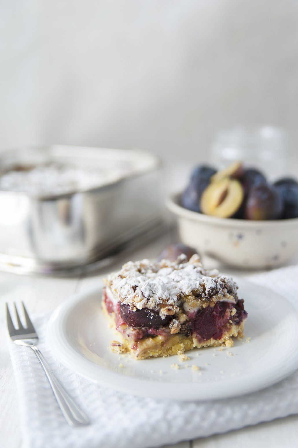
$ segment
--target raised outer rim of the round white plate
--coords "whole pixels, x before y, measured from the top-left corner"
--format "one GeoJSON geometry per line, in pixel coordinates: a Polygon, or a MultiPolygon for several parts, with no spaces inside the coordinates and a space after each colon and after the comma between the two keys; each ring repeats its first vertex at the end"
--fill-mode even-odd
{"type": "MultiPolygon", "coordinates": [[[[240,284],[240,286],[247,285],[265,289],[267,292],[282,298],[282,300],[289,306],[289,309],[293,311],[293,314],[298,323],[298,311],[294,307],[294,305],[287,300],[284,296],[279,293],[276,293],[272,289],[265,287],[263,285],[259,285],[253,282],[250,282],[243,278],[237,278],[233,276],[233,279],[240,284]]],[[[222,384],[228,387],[222,387],[221,392],[210,394],[210,388],[198,388],[199,391],[195,393],[194,383],[186,383],[181,382],[179,384],[183,384],[182,388],[176,388],[175,397],[171,397],[173,394],[174,384],[171,382],[163,382],[162,388],[157,386],[158,392],[155,391],[156,385],[160,385],[161,383],[157,383],[155,381],[149,381],[147,379],[130,377],[128,375],[119,374],[117,371],[112,371],[105,369],[103,366],[99,366],[95,362],[88,360],[82,354],[80,354],[77,350],[75,350],[71,343],[65,338],[64,340],[58,337],[59,332],[57,332],[58,328],[63,327],[63,323],[66,322],[68,315],[75,309],[75,307],[84,302],[85,300],[90,299],[92,295],[95,293],[100,293],[102,289],[102,280],[99,280],[99,283],[96,287],[91,287],[87,289],[83,289],[82,291],[71,295],[68,299],[62,302],[51,314],[50,319],[47,324],[47,341],[50,347],[50,350],[61,364],[69,368],[69,370],[81,375],[83,378],[88,379],[94,383],[102,385],[104,387],[113,388],[115,390],[131,393],[133,395],[138,396],[146,396],[155,399],[166,399],[166,400],[175,400],[175,401],[212,401],[212,400],[220,400],[226,398],[233,398],[237,396],[243,396],[252,392],[256,392],[262,390],[264,388],[268,388],[273,384],[280,382],[285,379],[289,375],[293,374],[298,369],[298,351],[296,356],[290,357],[289,364],[281,366],[277,369],[274,374],[271,375],[271,380],[267,381],[265,378],[259,379],[259,381],[254,381],[252,385],[248,385],[246,383],[246,387],[243,389],[243,379],[251,378],[250,375],[241,375],[241,377],[233,378],[233,379],[225,379],[222,384]],[[71,361],[69,360],[72,354],[71,361]],[[89,366],[89,369],[87,367],[89,366]],[[91,366],[93,368],[91,369],[91,366]],[[87,370],[86,370],[87,369],[87,370]],[[96,378],[94,377],[94,373],[96,372],[96,378]],[[100,375],[100,372],[102,375],[100,375]],[[121,378],[121,381],[119,381],[121,378]],[[229,384],[233,383],[233,388],[229,388],[229,384]],[[160,390],[161,389],[161,390],[160,390]],[[177,390],[178,389],[178,390],[177,390]],[[233,392],[232,392],[233,390],[233,392]],[[229,391],[229,392],[228,392],[229,391]],[[172,392],[172,393],[171,393],[172,392]],[[200,393],[198,393],[200,392],[200,393]]],[[[101,297],[101,296],[100,296],[101,297]]],[[[101,300],[101,298],[100,298],[101,300]]],[[[294,352],[295,353],[295,352],[294,352]]],[[[147,360],[148,361],[148,360],[147,360]]],[[[257,376],[257,375],[255,375],[257,376]]],[[[200,383],[196,383],[198,386],[200,383]]],[[[206,386],[206,383],[202,383],[206,386]]]]}

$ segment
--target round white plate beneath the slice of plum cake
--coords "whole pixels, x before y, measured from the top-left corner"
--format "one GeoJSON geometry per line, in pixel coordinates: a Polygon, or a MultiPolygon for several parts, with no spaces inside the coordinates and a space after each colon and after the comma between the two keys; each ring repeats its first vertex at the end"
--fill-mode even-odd
{"type": "Polygon", "coordinates": [[[298,368],[298,314],[274,291],[237,282],[248,312],[244,330],[250,341],[235,339],[232,348],[194,349],[187,352],[186,362],[177,356],[140,361],[112,353],[108,344],[117,337],[101,311],[100,282],[54,311],[48,323],[50,348],[60,362],[85,378],[136,395],[214,400],[257,391],[298,368]],[[171,368],[173,363],[179,370],[171,368]],[[200,370],[192,370],[192,365],[200,370]]]}

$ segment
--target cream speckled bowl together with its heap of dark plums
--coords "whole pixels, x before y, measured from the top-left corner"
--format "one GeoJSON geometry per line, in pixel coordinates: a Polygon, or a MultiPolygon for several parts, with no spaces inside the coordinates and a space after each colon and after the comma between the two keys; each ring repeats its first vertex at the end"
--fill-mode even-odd
{"type": "Polygon", "coordinates": [[[181,241],[238,268],[280,266],[298,254],[298,181],[269,182],[233,162],[194,168],[186,189],[167,200],[181,241]]]}

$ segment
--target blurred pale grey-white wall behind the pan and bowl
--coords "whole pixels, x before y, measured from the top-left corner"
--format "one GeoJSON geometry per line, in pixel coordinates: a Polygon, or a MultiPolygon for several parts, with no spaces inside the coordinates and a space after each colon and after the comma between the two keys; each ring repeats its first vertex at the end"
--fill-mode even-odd
{"type": "Polygon", "coordinates": [[[298,144],[295,0],[3,0],[0,149],[62,143],[206,158],[219,127],[298,144]]]}

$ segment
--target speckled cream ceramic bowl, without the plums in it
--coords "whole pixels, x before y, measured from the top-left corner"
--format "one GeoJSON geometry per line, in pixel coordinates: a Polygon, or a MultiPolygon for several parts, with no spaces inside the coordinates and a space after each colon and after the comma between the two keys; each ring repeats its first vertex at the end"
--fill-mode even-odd
{"type": "Polygon", "coordinates": [[[181,241],[230,266],[277,267],[298,253],[298,218],[250,221],[216,218],[181,207],[180,194],[166,205],[178,220],[181,241]]]}

